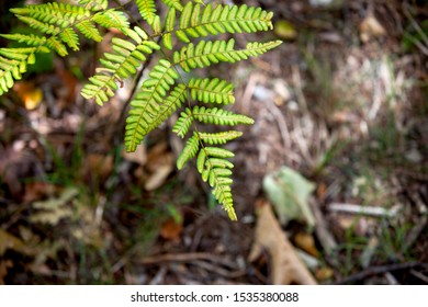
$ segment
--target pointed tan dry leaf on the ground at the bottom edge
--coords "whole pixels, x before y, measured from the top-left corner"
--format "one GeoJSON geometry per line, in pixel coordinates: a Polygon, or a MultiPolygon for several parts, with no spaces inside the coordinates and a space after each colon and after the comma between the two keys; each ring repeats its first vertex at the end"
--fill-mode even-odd
{"type": "Polygon", "coordinates": [[[269,202],[259,200],[256,207],[255,242],[248,260],[255,261],[262,249],[266,249],[272,259],[272,284],[289,285],[293,282],[303,285],[317,284],[283,234],[269,202]]]}

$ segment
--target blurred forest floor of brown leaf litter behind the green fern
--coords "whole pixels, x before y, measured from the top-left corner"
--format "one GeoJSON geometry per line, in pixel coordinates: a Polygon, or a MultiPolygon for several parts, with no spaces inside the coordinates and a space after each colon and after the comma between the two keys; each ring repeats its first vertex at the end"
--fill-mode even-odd
{"type": "Polygon", "coordinates": [[[133,81],[102,107],[80,96],[106,33],[0,98],[0,284],[428,284],[428,7],[233,2],[277,23],[237,44],[284,41],[210,69],[256,121],[228,147],[238,221],[177,170],[174,118],[125,154],[133,81]],[[311,223],[271,206],[284,168],[311,223]]]}

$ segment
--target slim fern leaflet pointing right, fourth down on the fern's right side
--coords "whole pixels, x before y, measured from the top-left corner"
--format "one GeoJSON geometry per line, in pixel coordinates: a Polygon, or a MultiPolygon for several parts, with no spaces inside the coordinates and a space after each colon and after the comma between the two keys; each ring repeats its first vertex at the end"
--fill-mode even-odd
{"type": "Polygon", "coordinates": [[[255,121],[248,116],[218,107],[211,109],[196,105],[192,109],[191,114],[194,120],[205,124],[235,126],[239,124],[252,125],[255,123],[255,121]]]}

